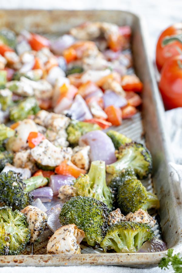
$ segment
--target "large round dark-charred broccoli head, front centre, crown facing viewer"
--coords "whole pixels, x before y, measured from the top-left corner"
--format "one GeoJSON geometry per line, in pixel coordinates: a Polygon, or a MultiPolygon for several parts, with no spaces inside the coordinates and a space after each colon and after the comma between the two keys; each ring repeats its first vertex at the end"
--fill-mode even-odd
{"type": "Polygon", "coordinates": [[[100,243],[107,229],[108,207],[92,197],[76,196],[66,202],[59,215],[62,225],[76,224],[85,232],[86,241],[94,246],[100,243]]]}

